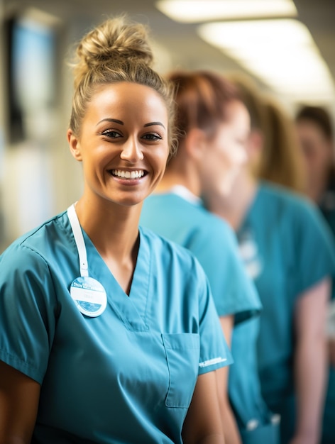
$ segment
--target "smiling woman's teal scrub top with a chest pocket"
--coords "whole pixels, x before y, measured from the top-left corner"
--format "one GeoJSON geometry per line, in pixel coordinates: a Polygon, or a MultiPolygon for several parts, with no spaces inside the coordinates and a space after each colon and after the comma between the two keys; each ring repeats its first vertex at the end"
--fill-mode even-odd
{"type": "Polygon", "coordinates": [[[207,277],[141,228],[127,296],[83,234],[107,293],[94,318],[70,297],[79,259],[67,213],[0,256],[0,360],[41,384],[32,443],[182,443],[198,374],[232,362],[207,277]]]}

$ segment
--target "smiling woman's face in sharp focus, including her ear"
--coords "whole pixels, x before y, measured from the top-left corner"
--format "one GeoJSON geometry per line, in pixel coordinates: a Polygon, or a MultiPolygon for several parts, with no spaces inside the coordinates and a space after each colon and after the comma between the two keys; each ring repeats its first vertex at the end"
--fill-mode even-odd
{"type": "Polygon", "coordinates": [[[69,130],[72,155],[82,161],[84,192],[131,206],[153,192],[169,153],[167,109],[150,87],[121,82],[98,89],[79,137],[69,130]]]}

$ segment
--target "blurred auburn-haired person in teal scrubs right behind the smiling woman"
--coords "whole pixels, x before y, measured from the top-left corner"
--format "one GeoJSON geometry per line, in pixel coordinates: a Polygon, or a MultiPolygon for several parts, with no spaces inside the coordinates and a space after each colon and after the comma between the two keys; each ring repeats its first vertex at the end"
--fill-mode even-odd
{"type": "Polygon", "coordinates": [[[168,79],[177,91],[178,150],[145,201],[141,224],[191,250],[209,278],[234,356],[229,399],[227,374],[216,372],[226,443],[274,444],[278,426],[260,396],[255,362],[257,321],[252,321],[260,311],[258,295],[243,270],[231,228],[202,204],[212,187],[229,192],[245,162],[248,111],[236,88],[219,74],[172,72],[168,79]]]}

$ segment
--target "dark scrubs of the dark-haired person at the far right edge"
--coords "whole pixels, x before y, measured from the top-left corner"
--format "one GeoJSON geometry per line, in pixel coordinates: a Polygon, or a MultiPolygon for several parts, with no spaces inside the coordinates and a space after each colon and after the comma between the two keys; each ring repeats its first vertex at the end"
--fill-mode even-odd
{"type": "MultiPolygon", "coordinates": [[[[330,184],[322,200],[319,203],[319,209],[322,211],[326,223],[328,223],[331,232],[335,236],[335,184],[330,184]]],[[[334,285],[335,289],[335,285],[334,285]]],[[[335,292],[333,289],[333,301],[335,292]]],[[[322,444],[335,443],[335,368],[329,367],[329,381],[326,391],[326,402],[324,406],[324,423],[322,431],[322,444]]]]}

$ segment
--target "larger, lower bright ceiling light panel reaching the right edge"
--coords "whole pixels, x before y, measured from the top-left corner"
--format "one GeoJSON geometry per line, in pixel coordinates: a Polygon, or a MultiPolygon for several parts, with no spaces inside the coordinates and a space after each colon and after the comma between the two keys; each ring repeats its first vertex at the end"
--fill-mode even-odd
{"type": "Polygon", "coordinates": [[[292,19],[206,23],[198,28],[207,43],[236,60],[280,94],[328,94],[334,84],[309,30],[292,19]]]}

